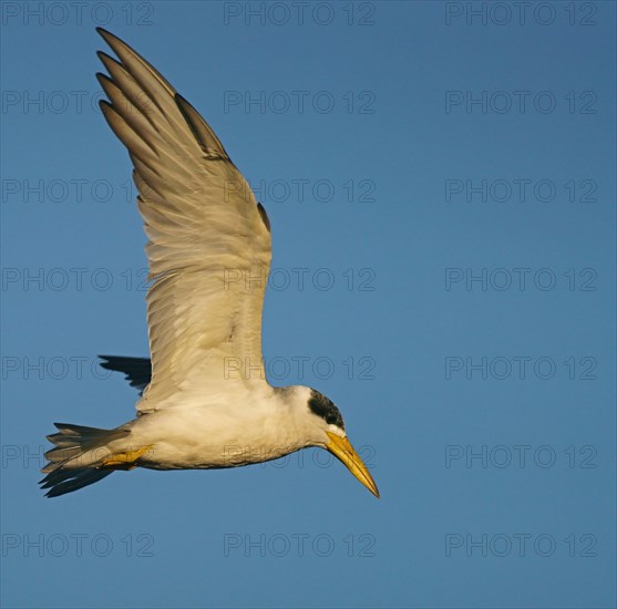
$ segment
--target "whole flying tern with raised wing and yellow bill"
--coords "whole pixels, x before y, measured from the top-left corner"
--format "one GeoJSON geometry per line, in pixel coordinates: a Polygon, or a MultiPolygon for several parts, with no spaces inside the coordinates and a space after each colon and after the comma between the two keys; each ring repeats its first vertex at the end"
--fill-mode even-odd
{"type": "Polygon", "coordinates": [[[379,497],[337,406],[315,389],[266,380],[266,210],[197,111],[133,49],[97,31],[117,56],[99,52],[109,72],[96,74],[109,99],[100,104],[128,151],[148,237],[151,360],[103,357],[142,391],[137,416],[113,430],[55,423],[47,495],[116,469],[237,467],[318,446],[379,497]]]}

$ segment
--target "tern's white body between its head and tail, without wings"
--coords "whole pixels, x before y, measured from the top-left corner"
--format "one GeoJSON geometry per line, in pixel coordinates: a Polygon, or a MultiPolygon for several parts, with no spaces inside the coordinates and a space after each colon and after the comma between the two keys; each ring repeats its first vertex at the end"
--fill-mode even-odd
{"type": "Polygon", "coordinates": [[[109,448],[115,453],[151,446],[140,466],[153,469],[235,467],[278,458],[307,446],[327,443],[321,430],[308,424],[304,386],[220,394],[204,404],[198,395],[178,396],[173,407],[140,416],[124,425],[131,434],[109,448]]]}

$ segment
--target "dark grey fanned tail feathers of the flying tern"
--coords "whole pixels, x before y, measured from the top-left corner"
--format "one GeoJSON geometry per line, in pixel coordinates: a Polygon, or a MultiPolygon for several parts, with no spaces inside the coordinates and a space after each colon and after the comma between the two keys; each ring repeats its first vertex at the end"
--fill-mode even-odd
{"type": "Polygon", "coordinates": [[[107,444],[131,433],[128,430],[100,430],[68,423],[54,423],[58,433],[48,435],[55,447],[45,453],[49,463],[41,469],[47,476],[41,488],[49,488],[47,497],[58,497],[94,484],[113,469],[100,467],[110,456],[107,444]]]}

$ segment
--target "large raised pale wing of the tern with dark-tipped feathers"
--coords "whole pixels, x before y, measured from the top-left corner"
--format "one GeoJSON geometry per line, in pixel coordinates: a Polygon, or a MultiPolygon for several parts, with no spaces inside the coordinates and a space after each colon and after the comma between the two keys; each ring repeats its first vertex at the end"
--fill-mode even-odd
{"type": "Polygon", "coordinates": [[[103,114],[128,149],[150,239],[152,382],[140,413],[178,393],[207,398],[265,383],[261,310],[269,223],[218,137],[174,87],[110,32],[100,52],[103,114]]]}

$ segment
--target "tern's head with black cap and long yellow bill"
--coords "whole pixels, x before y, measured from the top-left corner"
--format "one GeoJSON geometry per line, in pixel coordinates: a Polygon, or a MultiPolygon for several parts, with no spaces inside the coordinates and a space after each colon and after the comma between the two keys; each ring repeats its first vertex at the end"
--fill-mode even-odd
{"type": "Polygon", "coordinates": [[[310,444],[332,453],[376,497],[379,497],[377,484],[347,438],[339,409],[315,389],[297,389],[301,390],[302,394],[302,420],[310,430],[307,430],[310,433],[310,444]]]}

